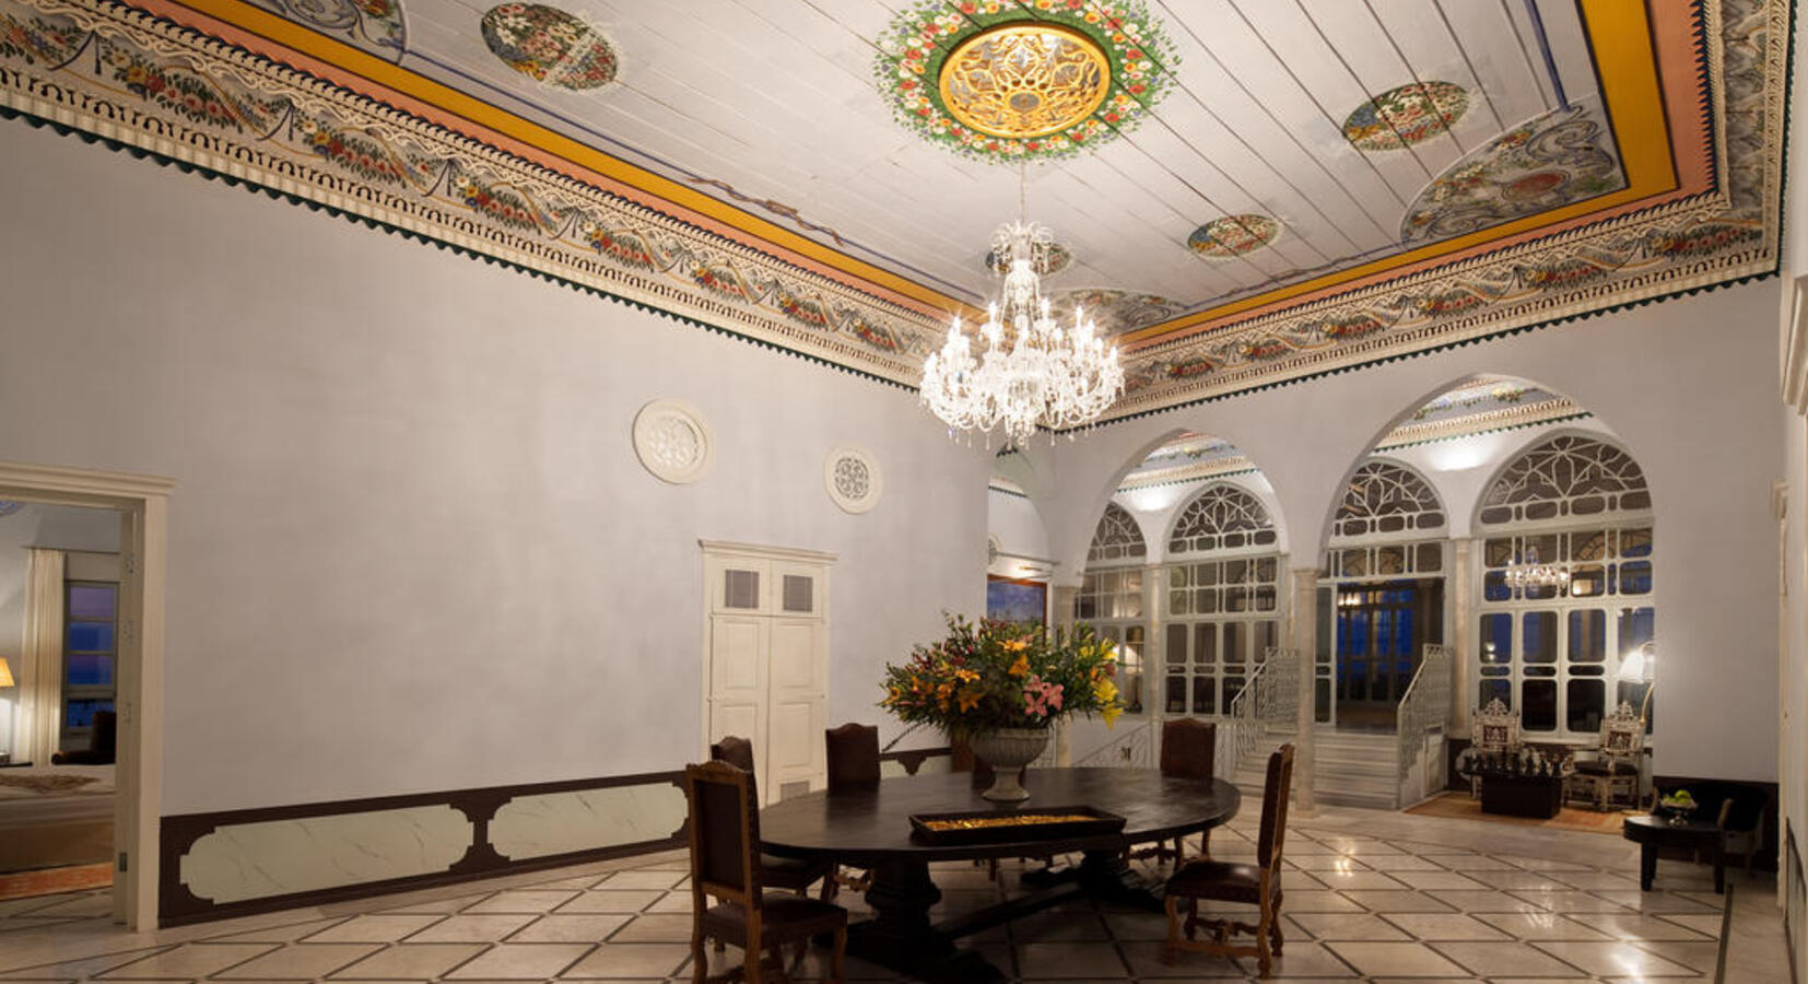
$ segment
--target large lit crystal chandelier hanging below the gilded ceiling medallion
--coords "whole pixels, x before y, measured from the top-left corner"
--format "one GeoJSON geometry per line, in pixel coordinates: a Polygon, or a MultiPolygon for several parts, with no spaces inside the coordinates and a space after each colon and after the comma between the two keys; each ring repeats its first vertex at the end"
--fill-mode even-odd
{"type": "Polygon", "coordinates": [[[922,402],[960,430],[1003,429],[1005,447],[1022,447],[1038,427],[1059,430],[1090,423],[1125,387],[1117,347],[1074,308],[1074,324],[1056,324],[1041,295],[1054,235],[1036,222],[1007,222],[993,235],[993,257],[1005,270],[1003,291],[978,329],[975,353],[955,317],[940,353],[922,365],[922,402]]]}

